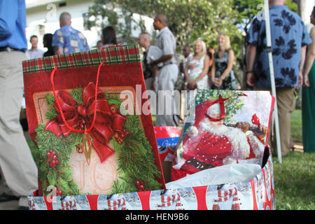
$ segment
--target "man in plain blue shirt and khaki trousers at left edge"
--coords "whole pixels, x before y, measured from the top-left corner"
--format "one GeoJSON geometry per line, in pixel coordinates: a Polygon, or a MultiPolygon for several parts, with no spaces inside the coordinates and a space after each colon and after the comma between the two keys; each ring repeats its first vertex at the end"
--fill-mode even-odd
{"type": "Polygon", "coordinates": [[[25,27],[25,0],[0,0],[0,169],[8,186],[0,202],[20,197],[20,208],[27,208],[27,195],[38,188],[37,167],[20,125],[25,27]]]}

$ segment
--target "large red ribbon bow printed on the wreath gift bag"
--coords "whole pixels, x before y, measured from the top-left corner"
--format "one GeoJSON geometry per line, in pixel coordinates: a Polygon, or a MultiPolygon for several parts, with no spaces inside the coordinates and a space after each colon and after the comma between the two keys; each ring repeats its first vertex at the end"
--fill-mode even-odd
{"type": "Polygon", "coordinates": [[[106,158],[114,153],[113,148],[108,144],[111,137],[115,135],[116,141],[119,140],[118,143],[122,144],[122,139],[128,133],[123,130],[126,117],[115,110],[111,110],[112,105],[109,106],[104,93],[99,88],[97,88],[97,101],[95,101],[95,88],[96,85],[94,83],[89,83],[83,88],[83,104],[80,105],[71,97],[69,92],[59,90],[56,94],[57,99],[55,99],[54,104],[58,116],[45,125],[45,130],[53,132],[57,137],[61,134],[67,137],[73,132],[64,123],[59,107],[57,106],[57,101],[62,109],[66,123],[73,129],[80,128],[80,130],[86,130],[86,127],[91,127],[94,118],[94,109],[96,109],[94,126],[89,134],[92,138],[91,144],[94,150],[99,155],[101,162],[104,162],[106,158]]]}

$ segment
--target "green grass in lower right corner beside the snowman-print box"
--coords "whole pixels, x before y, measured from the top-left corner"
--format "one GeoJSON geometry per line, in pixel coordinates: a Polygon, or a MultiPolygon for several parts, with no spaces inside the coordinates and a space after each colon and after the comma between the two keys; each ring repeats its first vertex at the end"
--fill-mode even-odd
{"type": "Polygon", "coordinates": [[[315,210],[315,153],[291,151],[274,161],[276,209],[315,210]]]}

